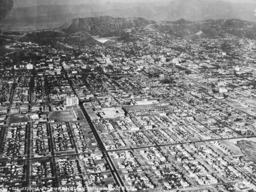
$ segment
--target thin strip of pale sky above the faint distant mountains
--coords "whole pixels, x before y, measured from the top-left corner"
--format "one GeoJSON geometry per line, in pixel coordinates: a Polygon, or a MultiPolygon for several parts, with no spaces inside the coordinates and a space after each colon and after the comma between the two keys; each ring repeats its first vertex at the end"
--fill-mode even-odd
{"type": "MultiPolygon", "coordinates": [[[[149,2],[149,1],[161,1],[161,2],[170,2],[173,0],[14,0],[14,7],[26,7],[26,6],[36,6],[36,5],[47,5],[47,4],[95,4],[95,3],[107,3],[107,2],[149,2]]],[[[211,0],[214,1],[214,0],[211,0]]],[[[226,2],[251,2],[256,4],[256,0],[223,0],[226,2]]]]}

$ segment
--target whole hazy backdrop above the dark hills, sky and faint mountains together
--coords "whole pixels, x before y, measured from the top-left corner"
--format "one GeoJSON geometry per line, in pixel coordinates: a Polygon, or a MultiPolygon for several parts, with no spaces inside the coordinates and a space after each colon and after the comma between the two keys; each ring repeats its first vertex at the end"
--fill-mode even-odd
{"type": "MultiPolygon", "coordinates": [[[[111,16],[153,21],[240,19],[256,22],[255,0],[0,0],[12,2],[1,14],[1,24],[52,29],[76,18],[111,16]]],[[[6,26],[7,26],[6,25],[6,26]]],[[[8,26],[7,26],[8,27],[8,26]]]]}

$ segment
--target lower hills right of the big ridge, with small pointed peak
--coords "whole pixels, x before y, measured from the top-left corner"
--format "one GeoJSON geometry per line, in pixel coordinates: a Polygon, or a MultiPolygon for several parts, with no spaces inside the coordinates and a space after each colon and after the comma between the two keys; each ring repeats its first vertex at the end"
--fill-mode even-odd
{"type": "Polygon", "coordinates": [[[156,30],[176,37],[204,36],[220,37],[231,34],[240,38],[256,39],[256,23],[238,19],[231,20],[205,20],[202,22],[162,22],[154,25],[156,30]]]}

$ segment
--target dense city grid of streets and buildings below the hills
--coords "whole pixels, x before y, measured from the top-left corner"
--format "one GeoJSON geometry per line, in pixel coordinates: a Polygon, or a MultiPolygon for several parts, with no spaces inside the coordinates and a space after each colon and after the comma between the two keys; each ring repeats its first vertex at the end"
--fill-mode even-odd
{"type": "Polygon", "coordinates": [[[255,191],[256,41],[125,32],[5,43],[26,54],[0,62],[2,190],[255,191]]]}

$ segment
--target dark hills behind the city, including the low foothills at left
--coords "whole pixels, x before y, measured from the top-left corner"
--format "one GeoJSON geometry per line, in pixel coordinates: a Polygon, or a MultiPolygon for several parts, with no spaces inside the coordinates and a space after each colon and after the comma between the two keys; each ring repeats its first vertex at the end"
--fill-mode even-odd
{"type": "Polygon", "coordinates": [[[225,35],[232,35],[256,40],[256,23],[238,19],[200,22],[180,19],[175,22],[156,22],[144,18],[113,18],[111,16],[76,18],[50,31],[24,34],[18,40],[61,48],[65,46],[68,48],[72,48],[72,46],[80,48],[95,45],[103,46],[104,44],[97,41],[97,38],[115,37],[113,38],[115,42],[132,42],[133,34],[130,34],[129,30],[134,28],[155,30],[169,34],[173,38],[220,38],[225,35]],[[97,38],[94,38],[95,36],[97,38]]]}

